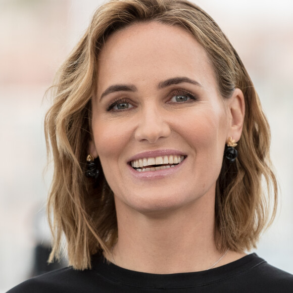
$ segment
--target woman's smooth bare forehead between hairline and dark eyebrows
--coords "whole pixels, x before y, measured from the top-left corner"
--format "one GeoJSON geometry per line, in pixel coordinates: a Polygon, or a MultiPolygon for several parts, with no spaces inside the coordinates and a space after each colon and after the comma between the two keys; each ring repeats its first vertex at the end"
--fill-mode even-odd
{"type": "Polygon", "coordinates": [[[207,53],[189,32],[159,22],[136,23],[113,33],[99,56],[98,89],[115,83],[175,76],[215,82],[207,53]]]}

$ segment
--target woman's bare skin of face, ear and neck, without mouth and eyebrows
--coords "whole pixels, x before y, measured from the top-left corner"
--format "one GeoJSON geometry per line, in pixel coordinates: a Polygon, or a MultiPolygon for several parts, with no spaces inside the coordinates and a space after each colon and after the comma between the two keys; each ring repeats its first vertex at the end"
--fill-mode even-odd
{"type": "MultiPolygon", "coordinates": [[[[112,34],[98,70],[89,152],[100,157],[115,194],[116,264],[152,273],[207,269],[221,256],[214,241],[215,186],[225,142],[241,135],[242,92],[235,89],[232,97],[223,99],[196,39],[181,28],[157,22],[112,34]],[[197,84],[158,87],[175,77],[197,84]],[[132,89],[103,94],[117,84],[132,89]],[[185,156],[174,172],[133,175],[133,156],[170,149],[185,156]]],[[[229,252],[218,265],[242,256],[229,252]]]]}

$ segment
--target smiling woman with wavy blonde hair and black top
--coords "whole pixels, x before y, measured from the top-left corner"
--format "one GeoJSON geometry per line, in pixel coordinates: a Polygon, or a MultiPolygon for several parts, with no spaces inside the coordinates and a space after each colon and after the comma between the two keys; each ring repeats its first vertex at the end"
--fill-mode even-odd
{"type": "Polygon", "coordinates": [[[64,234],[71,267],[10,292],[292,290],[293,276],[246,254],[276,211],[270,132],[209,15],[181,0],[111,1],[53,89],[50,261],[64,234]]]}

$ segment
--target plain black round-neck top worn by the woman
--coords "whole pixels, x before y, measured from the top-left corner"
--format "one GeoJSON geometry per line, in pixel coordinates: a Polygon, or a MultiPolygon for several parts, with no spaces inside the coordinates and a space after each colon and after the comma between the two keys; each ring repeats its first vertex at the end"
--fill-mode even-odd
{"type": "Polygon", "coordinates": [[[72,267],[52,271],[9,290],[9,293],[99,292],[293,292],[293,275],[269,265],[256,254],[207,271],[149,274],[108,264],[101,255],[92,258],[92,269],[72,267]]]}

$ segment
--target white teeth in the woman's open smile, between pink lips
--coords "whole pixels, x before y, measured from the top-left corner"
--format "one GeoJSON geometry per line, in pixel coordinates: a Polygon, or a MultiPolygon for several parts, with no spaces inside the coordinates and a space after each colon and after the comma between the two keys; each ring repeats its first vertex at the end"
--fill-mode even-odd
{"type": "Polygon", "coordinates": [[[182,155],[170,155],[156,158],[141,158],[130,162],[131,167],[138,172],[158,171],[175,167],[185,159],[182,155]]]}

